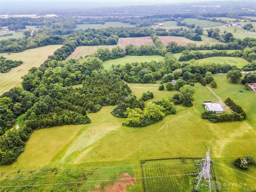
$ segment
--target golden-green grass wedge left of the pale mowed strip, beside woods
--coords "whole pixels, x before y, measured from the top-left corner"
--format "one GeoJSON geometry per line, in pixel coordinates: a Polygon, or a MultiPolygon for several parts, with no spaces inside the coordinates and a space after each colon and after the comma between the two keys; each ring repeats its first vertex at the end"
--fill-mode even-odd
{"type": "MultiPolygon", "coordinates": [[[[32,169],[44,167],[83,128],[84,125],[66,125],[35,130],[24,152],[12,164],[12,168],[32,169]]],[[[53,164],[52,166],[57,166],[53,164]]],[[[1,166],[1,171],[10,166],[1,166]]],[[[11,169],[12,170],[12,169],[11,169]]]]}

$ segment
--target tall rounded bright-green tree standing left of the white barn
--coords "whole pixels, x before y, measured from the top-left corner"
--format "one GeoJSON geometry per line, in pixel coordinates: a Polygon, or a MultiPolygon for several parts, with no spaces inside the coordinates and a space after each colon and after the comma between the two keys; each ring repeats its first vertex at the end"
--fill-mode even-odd
{"type": "Polygon", "coordinates": [[[195,93],[195,88],[190,85],[184,85],[180,88],[180,100],[186,107],[192,106],[192,101],[194,101],[193,94],[195,93]]]}

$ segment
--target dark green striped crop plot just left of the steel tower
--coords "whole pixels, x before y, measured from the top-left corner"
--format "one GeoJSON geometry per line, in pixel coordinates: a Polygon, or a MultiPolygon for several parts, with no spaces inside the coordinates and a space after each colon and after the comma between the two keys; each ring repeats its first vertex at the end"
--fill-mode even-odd
{"type": "Polygon", "coordinates": [[[142,164],[146,192],[191,191],[189,170],[195,169],[194,161],[152,160],[142,164]]]}

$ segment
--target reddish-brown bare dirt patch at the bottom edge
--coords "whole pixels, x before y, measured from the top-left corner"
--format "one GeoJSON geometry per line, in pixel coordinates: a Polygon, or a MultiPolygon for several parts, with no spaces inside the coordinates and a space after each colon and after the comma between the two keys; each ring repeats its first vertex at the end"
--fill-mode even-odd
{"type": "Polygon", "coordinates": [[[134,176],[123,173],[114,184],[105,186],[103,190],[100,189],[99,185],[95,185],[95,189],[90,192],[126,192],[126,187],[134,185],[135,182],[136,178],[134,176]]]}

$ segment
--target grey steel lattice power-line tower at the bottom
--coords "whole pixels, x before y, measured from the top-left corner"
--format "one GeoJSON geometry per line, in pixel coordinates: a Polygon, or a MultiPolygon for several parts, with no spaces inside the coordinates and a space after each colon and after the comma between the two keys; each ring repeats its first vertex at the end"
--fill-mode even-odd
{"type": "Polygon", "coordinates": [[[197,176],[197,185],[196,185],[196,190],[200,188],[201,186],[205,186],[209,192],[211,192],[211,174],[210,174],[210,166],[211,166],[211,158],[210,158],[210,147],[208,149],[208,152],[206,152],[206,159],[204,161],[204,164],[201,163],[202,165],[202,171],[200,174],[197,176]]]}

